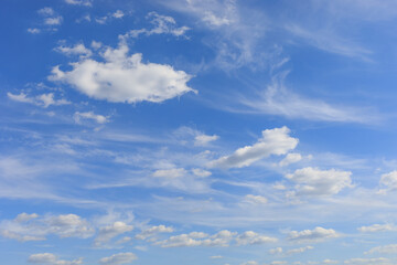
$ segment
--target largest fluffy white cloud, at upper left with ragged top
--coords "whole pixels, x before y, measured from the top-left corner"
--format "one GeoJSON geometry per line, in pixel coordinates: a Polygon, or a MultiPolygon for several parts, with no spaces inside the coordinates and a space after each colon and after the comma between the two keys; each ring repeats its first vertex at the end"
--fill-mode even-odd
{"type": "Polygon", "coordinates": [[[170,65],[142,63],[142,55],[128,55],[128,46],[108,47],[101,56],[72,63],[73,70],[63,72],[58,66],[49,78],[67,83],[96,99],[114,103],[160,103],[187,92],[195,92],[186,83],[192,77],[170,65]]]}

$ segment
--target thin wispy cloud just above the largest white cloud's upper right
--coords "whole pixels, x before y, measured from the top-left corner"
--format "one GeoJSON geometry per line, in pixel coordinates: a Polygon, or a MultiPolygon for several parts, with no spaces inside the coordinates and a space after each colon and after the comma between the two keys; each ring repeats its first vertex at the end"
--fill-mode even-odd
{"type": "Polygon", "coordinates": [[[186,31],[190,30],[187,26],[176,26],[176,22],[172,17],[161,15],[157,12],[150,12],[147,15],[147,19],[150,19],[153,28],[151,30],[140,29],[131,30],[127,34],[120,38],[138,38],[141,34],[152,35],[152,34],[171,34],[174,36],[184,35],[186,31]]]}

